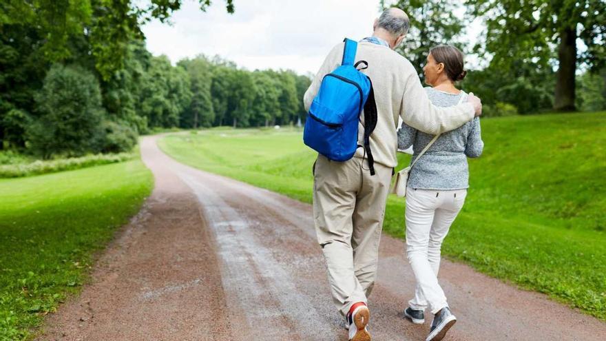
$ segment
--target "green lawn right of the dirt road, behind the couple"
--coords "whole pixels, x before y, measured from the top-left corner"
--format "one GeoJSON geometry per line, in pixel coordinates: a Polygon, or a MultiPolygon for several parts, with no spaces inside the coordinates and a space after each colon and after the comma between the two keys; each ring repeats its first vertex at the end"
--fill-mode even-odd
{"type": "MultiPolygon", "coordinates": [[[[484,154],[443,254],[606,320],[606,112],[482,121],[484,154]]],[[[179,161],[311,203],[315,153],[297,130],[167,136],[179,161]]],[[[409,156],[399,156],[399,167],[409,156]]],[[[404,237],[404,199],[385,231],[404,237]]],[[[380,274],[379,274],[380,276],[380,274]]]]}

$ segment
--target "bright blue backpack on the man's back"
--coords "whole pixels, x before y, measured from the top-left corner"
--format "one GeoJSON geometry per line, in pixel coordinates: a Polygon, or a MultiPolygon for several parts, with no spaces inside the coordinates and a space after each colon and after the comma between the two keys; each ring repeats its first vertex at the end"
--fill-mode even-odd
{"type": "Polygon", "coordinates": [[[359,147],[368,155],[370,174],[375,175],[374,158],[370,152],[370,134],[377,125],[377,105],[373,83],[354,65],[357,42],[345,39],[341,66],[322,79],[320,90],[311,103],[303,142],[333,161],[353,158],[359,147]],[[364,145],[358,145],[358,121],[364,109],[364,145]]]}

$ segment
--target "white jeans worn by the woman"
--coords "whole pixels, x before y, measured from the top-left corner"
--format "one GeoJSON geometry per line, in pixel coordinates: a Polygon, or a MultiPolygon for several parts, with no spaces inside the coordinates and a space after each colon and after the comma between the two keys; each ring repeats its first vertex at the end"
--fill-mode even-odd
{"type": "Polygon", "coordinates": [[[435,314],[448,307],[437,280],[440,249],[466,196],[467,189],[406,190],[406,254],[417,280],[415,297],[408,301],[412,309],[429,306],[435,314]]]}

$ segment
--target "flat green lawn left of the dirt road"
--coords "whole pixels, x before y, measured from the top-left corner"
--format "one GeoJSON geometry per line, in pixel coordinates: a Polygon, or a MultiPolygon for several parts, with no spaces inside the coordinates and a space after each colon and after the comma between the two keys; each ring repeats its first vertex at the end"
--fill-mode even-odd
{"type": "Polygon", "coordinates": [[[139,160],[0,179],[0,340],[31,338],[46,313],[79,291],[95,251],[152,187],[139,160]]]}

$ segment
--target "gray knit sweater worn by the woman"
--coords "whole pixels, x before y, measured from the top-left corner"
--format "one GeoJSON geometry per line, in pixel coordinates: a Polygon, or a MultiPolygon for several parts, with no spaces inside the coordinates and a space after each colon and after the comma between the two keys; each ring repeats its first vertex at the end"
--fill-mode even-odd
{"type": "MultiPolygon", "coordinates": [[[[466,93],[448,94],[425,88],[430,101],[437,107],[457,105],[466,93]]],[[[398,149],[408,149],[412,145],[415,152],[412,161],[434,136],[419,132],[402,123],[397,132],[398,149]]],[[[419,189],[464,189],[469,187],[467,157],[477,158],[482,154],[484,143],[480,134],[480,120],[473,118],[455,130],[441,134],[435,143],[410,169],[408,187],[419,189]]]]}

